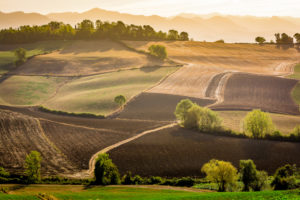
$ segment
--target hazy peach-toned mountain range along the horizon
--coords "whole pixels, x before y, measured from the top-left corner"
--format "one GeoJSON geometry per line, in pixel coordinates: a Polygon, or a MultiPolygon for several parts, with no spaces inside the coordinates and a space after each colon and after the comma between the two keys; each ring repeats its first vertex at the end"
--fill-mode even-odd
{"type": "Polygon", "coordinates": [[[293,35],[300,32],[300,18],[293,17],[254,17],[231,16],[218,13],[196,15],[182,13],[174,17],[160,17],[157,15],[144,16],[107,11],[94,8],[83,13],[64,12],[41,15],[37,13],[1,13],[0,28],[17,27],[20,25],[40,25],[50,21],[62,21],[75,25],[90,19],[96,21],[118,21],[126,24],[151,25],[156,30],[168,31],[177,29],[187,31],[195,40],[216,41],[224,39],[226,42],[253,42],[256,36],[263,36],[267,40],[274,40],[274,33],[286,32],[293,35]]]}

